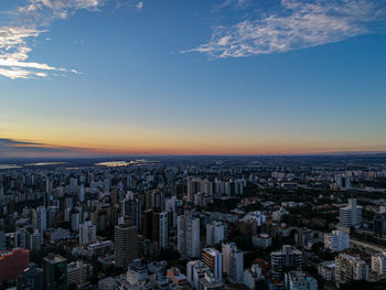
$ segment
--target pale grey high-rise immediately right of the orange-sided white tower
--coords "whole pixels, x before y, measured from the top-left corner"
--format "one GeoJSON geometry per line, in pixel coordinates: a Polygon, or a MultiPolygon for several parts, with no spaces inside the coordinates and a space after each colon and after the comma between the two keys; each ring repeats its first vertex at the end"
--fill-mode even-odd
{"type": "Polygon", "coordinates": [[[244,272],[244,253],[235,243],[223,244],[223,269],[232,282],[240,282],[244,272]]]}

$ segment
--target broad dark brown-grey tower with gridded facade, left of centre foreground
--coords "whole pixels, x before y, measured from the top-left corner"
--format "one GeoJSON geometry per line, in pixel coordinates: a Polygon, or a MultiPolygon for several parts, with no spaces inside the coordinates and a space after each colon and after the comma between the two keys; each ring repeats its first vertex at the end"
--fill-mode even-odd
{"type": "Polygon", "coordinates": [[[115,227],[115,259],[116,266],[126,268],[138,257],[138,229],[129,224],[119,224],[115,227]]]}

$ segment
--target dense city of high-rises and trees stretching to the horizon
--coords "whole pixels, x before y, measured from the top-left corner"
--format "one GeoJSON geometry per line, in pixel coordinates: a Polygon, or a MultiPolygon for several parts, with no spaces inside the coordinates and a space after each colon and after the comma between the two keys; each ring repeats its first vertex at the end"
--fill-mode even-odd
{"type": "Polygon", "coordinates": [[[4,289],[386,287],[385,154],[19,161],[0,184],[4,289]]]}

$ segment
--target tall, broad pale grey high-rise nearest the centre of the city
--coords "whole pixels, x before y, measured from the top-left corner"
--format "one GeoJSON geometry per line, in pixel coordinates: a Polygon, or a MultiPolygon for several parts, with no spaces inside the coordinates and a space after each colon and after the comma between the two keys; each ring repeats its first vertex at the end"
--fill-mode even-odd
{"type": "Polygon", "coordinates": [[[178,217],[178,250],[189,258],[200,257],[200,218],[193,211],[178,217]]]}

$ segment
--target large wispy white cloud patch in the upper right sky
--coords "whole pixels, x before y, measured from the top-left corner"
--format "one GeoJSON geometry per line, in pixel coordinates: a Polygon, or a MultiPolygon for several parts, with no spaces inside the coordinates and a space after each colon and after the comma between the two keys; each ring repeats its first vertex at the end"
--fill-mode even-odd
{"type": "Polygon", "coordinates": [[[384,26],[385,12],[385,0],[281,0],[269,14],[256,12],[233,25],[214,28],[210,42],[183,53],[244,57],[340,42],[373,33],[379,23],[384,26]]]}

